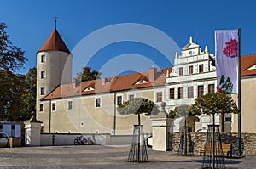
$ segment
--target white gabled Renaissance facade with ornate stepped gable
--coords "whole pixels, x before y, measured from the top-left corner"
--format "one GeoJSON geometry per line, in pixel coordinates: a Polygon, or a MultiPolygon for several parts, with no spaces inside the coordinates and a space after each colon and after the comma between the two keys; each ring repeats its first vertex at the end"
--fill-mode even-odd
{"type": "MultiPolygon", "coordinates": [[[[192,37],[182,49],[182,54],[176,54],[173,70],[166,76],[166,110],[173,110],[183,104],[193,104],[198,96],[216,92],[217,76],[210,56],[214,58],[208,52],[207,46],[202,51],[199,45],[192,42],[192,37]]],[[[212,117],[201,115],[199,119],[192,130],[207,132],[207,125],[212,123],[212,117]]],[[[218,116],[215,122],[219,123],[218,116]]],[[[173,132],[181,132],[183,126],[184,118],[175,119],[173,132]]]]}

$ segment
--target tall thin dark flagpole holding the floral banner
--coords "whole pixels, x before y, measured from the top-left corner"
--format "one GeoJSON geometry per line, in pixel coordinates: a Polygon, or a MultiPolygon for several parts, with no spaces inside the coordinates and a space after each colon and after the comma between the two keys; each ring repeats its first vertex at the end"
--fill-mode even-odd
{"type": "MultiPolygon", "coordinates": [[[[241,28],[238,29],[238,109],[241,111],[241,28]]],[[[238,155],[241,156],[241,113],[238,114],[238,155]]]]}

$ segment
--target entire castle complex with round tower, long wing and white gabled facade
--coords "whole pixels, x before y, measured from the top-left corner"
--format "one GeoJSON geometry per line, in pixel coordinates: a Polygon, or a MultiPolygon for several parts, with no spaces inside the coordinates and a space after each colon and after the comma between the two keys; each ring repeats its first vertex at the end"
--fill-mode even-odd
{"type": "MultiPolygon", "coordinates": [[[[137,115],[120,115],[118,104],[135,97],[146,98],[158,105],[166,102],[168,112],[194,103],[198,96],[216,92],[217,77],[210,58],[214,55],[208,48],[203,51],[190,37],[182,54],[176,54],[172,68],[152,67],[76,86],[72,82],[73,55],[55,28],[37,53],[37,119],[43,121],[43,131],[49,133],[131,134],[137,115]]],[[[256,132],[255,65],[256,55],[241,57],[241,132],[256,132]]],[[[150,118],[142,115],[141,119],[144,132],[151,133],[150,118]]],[[[207,132],[211,119],[201,115],[187,121],[187,125],[194,132],[207,132]]],[[[217,116],[216,122],[223,123],[223,132],[237,132],[237,115],[217,116]]],[[[180,132],[183,125],[183,117],[175,119],[171,132],[180,132]]]]}

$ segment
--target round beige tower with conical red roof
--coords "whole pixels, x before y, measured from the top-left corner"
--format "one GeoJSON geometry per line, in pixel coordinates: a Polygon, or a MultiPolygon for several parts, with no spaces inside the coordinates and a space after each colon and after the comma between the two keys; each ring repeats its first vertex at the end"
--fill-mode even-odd
{"type": "Polygon", "coordinates": [[[37,53],[37,116],[44,112],[40,99],[59,85],[72,82],[72,58],[55,26],[37,53]]]}

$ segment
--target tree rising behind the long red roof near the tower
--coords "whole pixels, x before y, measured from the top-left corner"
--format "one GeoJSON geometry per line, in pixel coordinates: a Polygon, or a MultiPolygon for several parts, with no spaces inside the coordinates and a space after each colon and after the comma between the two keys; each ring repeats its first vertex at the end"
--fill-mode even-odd
{"type": "Polygon", "coordinates": [[[90,67],[86,66],[83,68],[82,72],[77,73],[77,77],[74,78],[74,80],[76,84],[79,84],[80,82],[96,80],[97,78],[100,78],[101,74],[101,72],[91,70],[90,67]]]}

